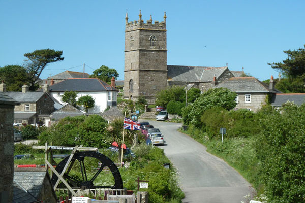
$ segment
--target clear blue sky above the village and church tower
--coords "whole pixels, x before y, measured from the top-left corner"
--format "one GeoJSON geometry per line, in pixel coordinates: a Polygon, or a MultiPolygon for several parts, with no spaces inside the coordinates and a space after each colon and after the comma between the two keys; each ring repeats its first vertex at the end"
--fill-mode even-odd
{"type": "Polygon", "coordinates": [[[268,62],[305,44],[305,1],[24,1],[0,0],[0,67],[22,65],[37,49],[62,50],[46,79],[101,65],[124,79],[125,15],[144,22],[167,15],[167,64],[225,66],[260,80],[278,78],[268,62]],[[73,68],[74,67],[74,68],[73,68]]]}

